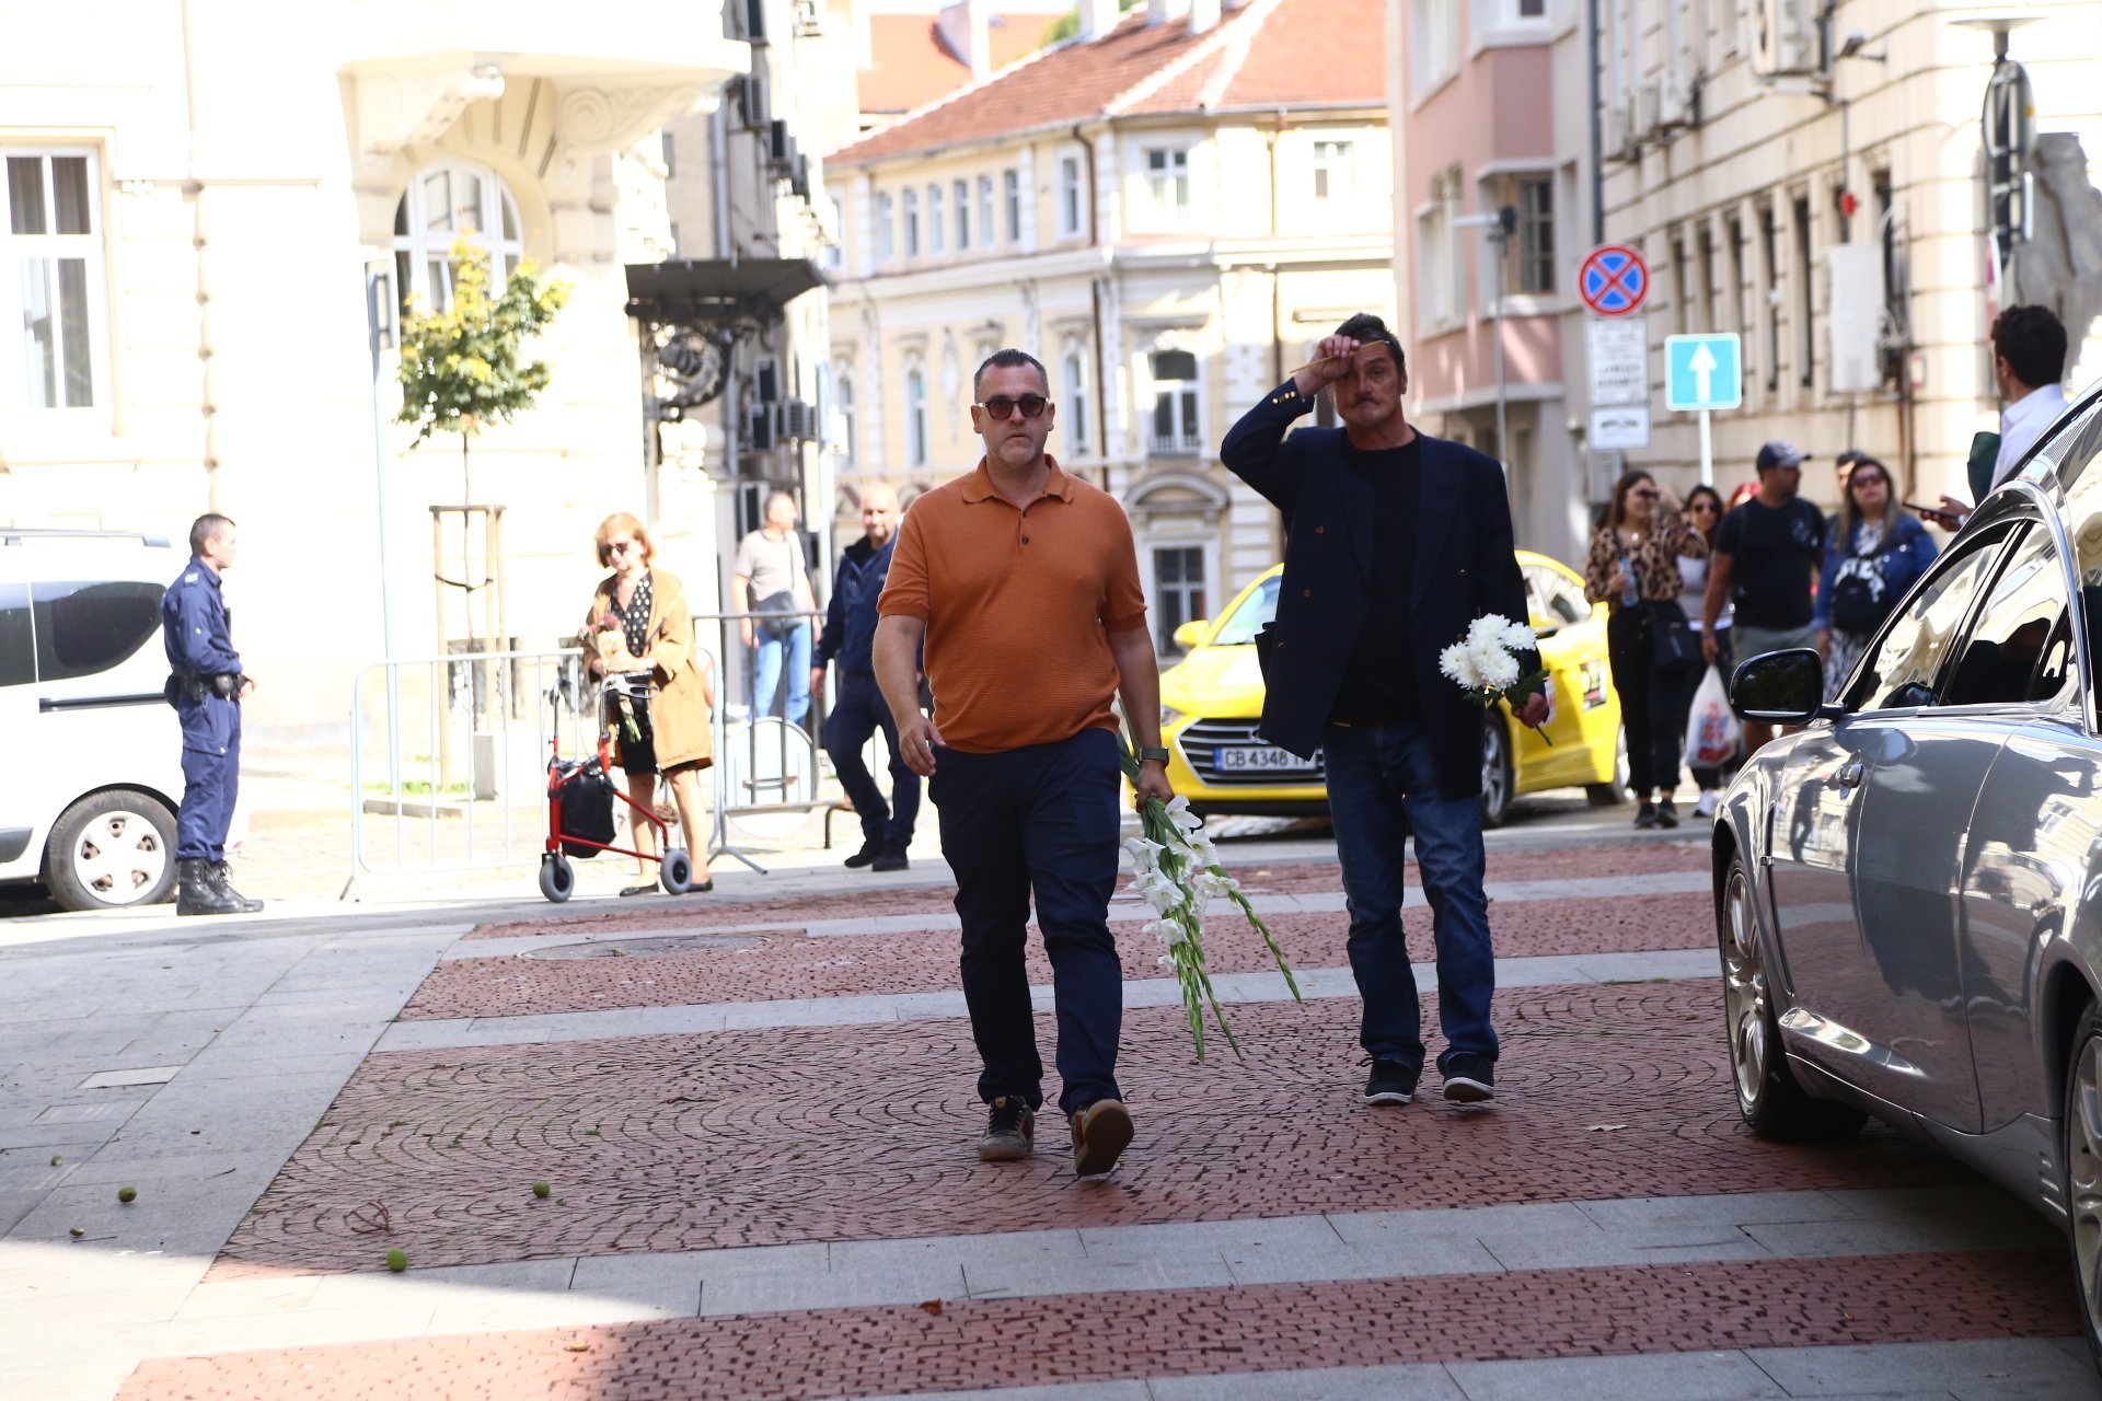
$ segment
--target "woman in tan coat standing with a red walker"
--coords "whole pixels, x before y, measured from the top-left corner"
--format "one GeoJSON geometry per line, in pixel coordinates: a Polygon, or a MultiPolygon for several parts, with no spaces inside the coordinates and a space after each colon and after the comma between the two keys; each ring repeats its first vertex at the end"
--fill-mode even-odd
{"type": "MultiPolygon", "coordinates": [[[[694,647],[694,615],[685,607],[685,588],[662,569],[652,569],[656,546],[650,531],[628,513],[599,521],[595,538],[599,563],[612,573],[591,597],[584,620],[584,668],[593,676],[614,672],[645,672],[650,702],[637,706],[633,727],[626,716],[614,723],[614,748],[622,773],[628,775],[628,796],[645,811],[656,798],[656,775],[671,779],[673,802],[679,804],[679,825],[685,830],[685,851],[694,859],[694,891],[713,891],[708,876],[708,823],[700,794],[700,771],[715,762],[715,741],[708,716],[715,712],[713,660],[694,647]]],[[[612,697],[610,697],[610,704],[612,697]]],[[[635,823],[635,849],[654,851],[656,830],[635,823]]],[[[647,895],[658,888],[647,861],[637,861],[645,880],[626,886],[622,895],[647,895]]]]}

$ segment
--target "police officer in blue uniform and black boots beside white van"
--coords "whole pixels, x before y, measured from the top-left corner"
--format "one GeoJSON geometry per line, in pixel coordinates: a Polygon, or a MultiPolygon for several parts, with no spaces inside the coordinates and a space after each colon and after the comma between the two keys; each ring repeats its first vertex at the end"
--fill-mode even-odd
{"type": "Polygon", "coordinates": [[[242,674],[219,576],[233,567],[233,521],[202,515],[189,527],[189,567],[160,601],[168,704],[183,723],[183,807],[174,817],[177,914],[252,914],[227,878],[227,825],[242,769],[242,674]]]}

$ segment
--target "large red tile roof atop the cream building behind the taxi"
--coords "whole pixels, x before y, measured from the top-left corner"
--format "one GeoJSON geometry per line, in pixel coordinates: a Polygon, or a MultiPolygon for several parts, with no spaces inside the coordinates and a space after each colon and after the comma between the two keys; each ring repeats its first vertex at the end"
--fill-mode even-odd
{"type": "Polygon", "coordinates": [[[937,97],[830,153],[826,164],[1137,111],[1381,107],[1385,101],[1383,0],[1249,0],[1194,38],[1188,19],[1148,25],[1141,8],[1097,40],[1045,48],[937,97]]]}

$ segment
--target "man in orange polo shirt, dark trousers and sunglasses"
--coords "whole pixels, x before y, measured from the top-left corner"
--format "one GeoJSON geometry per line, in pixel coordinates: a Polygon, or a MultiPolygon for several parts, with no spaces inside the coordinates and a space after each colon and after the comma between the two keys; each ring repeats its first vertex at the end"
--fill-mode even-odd
{"type": "Polygon", "coordinates": [[[1125,970],[1108,922],[1118,859],[1110,702],[1122,693],[1137,731],[1141,800],[1167,800],[1160,672],[1125,508],[1045,452],[1057,412],[1043,363],[998,351],[971,389],[986,456],[912,502],[898,529],[877,603],[877,683],[956,872],[963,998],[990,1107],[977,1157],[1028,1157],[1043,1107],[1022,962],[1034,893],[1072,1168],[1095,1176],[1133,1132],[1116,1088],[1125,970]],[[919,708],[923,641],[933,718],[919,708]]]}

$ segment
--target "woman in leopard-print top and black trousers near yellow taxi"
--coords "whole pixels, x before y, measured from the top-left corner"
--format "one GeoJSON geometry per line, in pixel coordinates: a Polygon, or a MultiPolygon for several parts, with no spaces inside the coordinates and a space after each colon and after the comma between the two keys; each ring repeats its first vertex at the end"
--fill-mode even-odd
{"type": "Polygon", "coordinates": [[[1679,607],[1679,559],[1707,559],[1707,540],[1648,473],[1621,473],[1606,523],[1591,531],[1583,578],[1585,597],[1612,609],[1606,657],[1621,695],[1629,786],[1642,802],[1637,828],[1679,825],[1671,792],[1679,786],[1686,710],[1701,685],[1701,643],[1679,607]]]}

